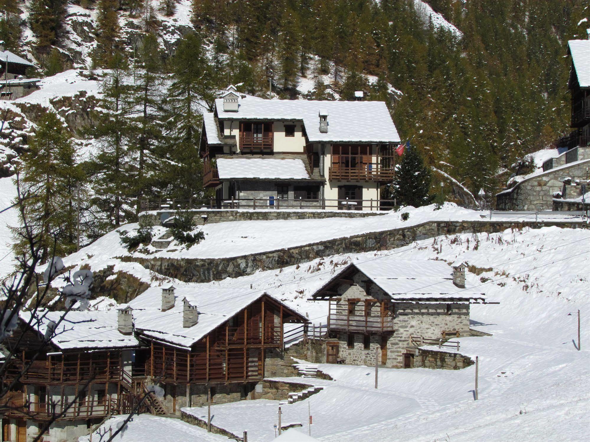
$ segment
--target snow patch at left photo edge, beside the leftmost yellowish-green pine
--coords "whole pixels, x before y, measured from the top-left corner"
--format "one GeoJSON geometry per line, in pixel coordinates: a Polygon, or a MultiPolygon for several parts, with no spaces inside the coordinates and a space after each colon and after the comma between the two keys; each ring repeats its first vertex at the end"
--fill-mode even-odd
{"type": "MultiPolygon", "coordinates": [[[[12,178],[0,178],[0,210],[11,206],[17,197],[17,188],[12,178]]],[[[10,226],[17,226],[17,209],[8,209],[0,213],[0,279],[8,276],[14,267],[14,255],[12,254],[12,232],[10,226]]]]}

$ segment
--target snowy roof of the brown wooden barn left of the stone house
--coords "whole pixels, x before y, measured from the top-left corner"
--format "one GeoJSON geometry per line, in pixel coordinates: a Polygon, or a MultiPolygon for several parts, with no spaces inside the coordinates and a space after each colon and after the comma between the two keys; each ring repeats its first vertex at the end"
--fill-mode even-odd
{"type": "MultiPolygon", "coordinates": [[[[260,291],[249,291],[246,288],[227,289],[215,287],[215,284],[183,283],[179,284],[175,290],[174,306],[165,312],[161,310],[162,288],[160,287],[149,288],[133,299],[129,305],[133,308],[133,323],[136,331],[156,341],[189,348],[265,294],[278,304],[282,304],[272,295],[260,291]],[[192,327],[182,326],[181,300],[183,298],[186,298],[192,306],[196,306],[199,313],[199,320],[192,327]]],[[[294,312],[287,305],[283,304],[283,306],[294,312]]],[[[297,312],[294,313],[297,314],[297,312]]]]}

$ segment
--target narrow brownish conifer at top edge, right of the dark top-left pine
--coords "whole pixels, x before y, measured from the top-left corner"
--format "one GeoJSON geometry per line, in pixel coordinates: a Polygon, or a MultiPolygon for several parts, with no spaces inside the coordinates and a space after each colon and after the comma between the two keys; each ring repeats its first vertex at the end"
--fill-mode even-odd
{"type": "Polygon", "coordinates": [[[94,63],[101,67],[109,64],[119,49],[119,0],[99,0],[98,32],[96,33],[96,51],[94,63]]]}

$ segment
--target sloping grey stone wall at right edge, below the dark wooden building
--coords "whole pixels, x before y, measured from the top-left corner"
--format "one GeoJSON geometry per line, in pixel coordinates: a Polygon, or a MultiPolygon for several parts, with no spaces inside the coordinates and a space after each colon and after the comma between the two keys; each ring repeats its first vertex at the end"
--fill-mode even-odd
{"type": "Polygon", "coordinates": [[[516,184],[512,190],[496,195],[499,210],[546,210],[551,209],[553,194],[562,192],[563,178],[585,179],[586,167],[590,166],[590,152],[578,150],[578,162],[558,170],[548,170],[516,184]],[[584,157],[581,158],[580,156],[584,157]],[[582,162],[579,162],[584,160],[582,162]]]}

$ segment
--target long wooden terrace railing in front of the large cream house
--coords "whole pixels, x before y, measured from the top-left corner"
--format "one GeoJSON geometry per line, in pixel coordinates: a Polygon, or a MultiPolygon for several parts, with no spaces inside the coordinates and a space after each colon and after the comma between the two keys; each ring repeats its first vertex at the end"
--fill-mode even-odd
{"type": "Polygon", "coordinates": [[[322,210],[391,210],[394,208],[395,200],[353,200],[353,199],[278,199],[266,198],[230,198],[221,203],[214,198],[209,199],[142,199],[137,201],[140,212],[146,210],[164,210],[173,213],[176,210],[199,210],[199,209],[322,209],[322,210]]]}

